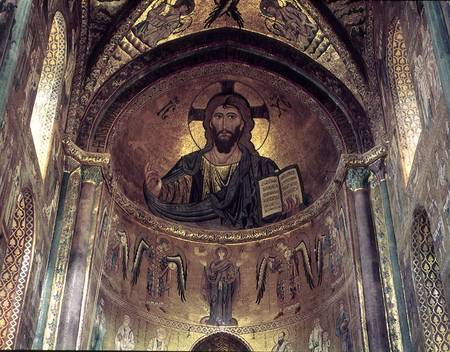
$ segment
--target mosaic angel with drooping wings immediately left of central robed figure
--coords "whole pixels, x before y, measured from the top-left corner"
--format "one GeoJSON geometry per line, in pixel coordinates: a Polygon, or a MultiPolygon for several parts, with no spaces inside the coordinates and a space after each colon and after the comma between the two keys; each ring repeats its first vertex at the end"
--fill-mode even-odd
{"type": "Polygon", "coordinates": [[[181,251],[171,254],[170,245],[166,239],[160,239],[156,245],[149,244],[145,239],[141,239],[134,256],[131,284],[136,285],[141,272],[143,258],[147,258],[147,293],[149,301],[146,307],[149,310],[150,305],[159,305],[161,307],[163,300],[169,295],[170,282],[172,280],[172,271],[176,272],[177,291],[181,301],[186,301],[186,278],[187,266],[186,258],[181,251]]]}

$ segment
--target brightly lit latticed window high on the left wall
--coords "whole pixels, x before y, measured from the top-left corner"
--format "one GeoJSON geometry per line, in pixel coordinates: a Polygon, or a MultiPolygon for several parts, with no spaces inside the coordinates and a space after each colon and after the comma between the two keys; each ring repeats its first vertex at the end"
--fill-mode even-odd
{"type": "Polygon", "coordinates": [[[66,22],[60,12],[53,18],[30,128],[42,179],[45,179],[54,133],[58,101],[66,65],[66,22]]]}

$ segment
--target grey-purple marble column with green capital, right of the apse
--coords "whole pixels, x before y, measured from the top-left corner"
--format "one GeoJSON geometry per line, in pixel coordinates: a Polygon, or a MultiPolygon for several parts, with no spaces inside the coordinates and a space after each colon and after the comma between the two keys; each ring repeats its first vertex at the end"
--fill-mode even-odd
{"type": "Polygon", "coordinates": [[[369,176],[367,168],[349,169],[346,181],[347,187],[353,192],[355,205],[369,351],[381,352],[389,351],[389,342],[379,255],[370,208],[369,176]]]}

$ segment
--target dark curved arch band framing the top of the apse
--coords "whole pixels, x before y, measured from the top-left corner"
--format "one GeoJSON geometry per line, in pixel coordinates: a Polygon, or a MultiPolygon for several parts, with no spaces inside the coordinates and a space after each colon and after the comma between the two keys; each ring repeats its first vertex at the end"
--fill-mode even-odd
{"type": "Polygon", "coordinates": [[[285,43],[233,28],[219,28],[175,39],[126,64],[99,88],[88,104],[78,130],[77,145],[90,151],[104,152],[117,115],[139,92],[175,72],[223,62],[263,69],[301,87],[329,113],[346,152],[364,152],[373,147],[364,107],[344,83],[285,43]]]}

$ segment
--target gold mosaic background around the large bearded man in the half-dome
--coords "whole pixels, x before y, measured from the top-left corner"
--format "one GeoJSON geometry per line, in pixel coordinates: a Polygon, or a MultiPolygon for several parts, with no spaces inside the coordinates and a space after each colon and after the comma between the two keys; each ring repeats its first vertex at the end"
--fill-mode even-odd
{"type": "Polygon", "coordinates": [[[330,117],[292,83],[232,63],[177,73],[148,87],[128,104],[109,137],[112,174],[123,192],[146,208],[142,194],[146,163],[164,175],[181,156],[198,150],[195,140],[198,144],[204,140],[203,127],[201,122],[188,124],[188,111],[194,100],[200,104],[214,94],[203,94],[205,88],[222,80],[241,82],[237,86],[247,87],[251,102],[266,104],[270,121],[257,119],[252,141],[260,146],[260,155],[274,160],[279,168],[297,164],[304,192],[316,200],[331,182],[342,150],[330,117]],[[161,138],[154,138],[154,131],[160,131],[161,138]]]}

